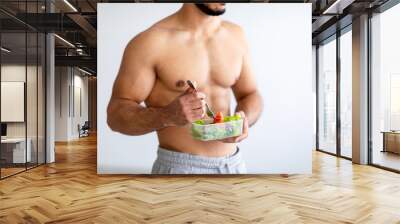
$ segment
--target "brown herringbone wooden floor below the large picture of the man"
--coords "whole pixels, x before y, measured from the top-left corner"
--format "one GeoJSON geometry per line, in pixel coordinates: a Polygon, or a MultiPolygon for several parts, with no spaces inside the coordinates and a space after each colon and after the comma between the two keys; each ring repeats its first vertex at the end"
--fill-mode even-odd
{"type": "Polygon", "coordinates": [[[0,223],[400,223],[400,175],[314,153],[313,174],[99,176],[96,139],[0,181],[0,223]]]}

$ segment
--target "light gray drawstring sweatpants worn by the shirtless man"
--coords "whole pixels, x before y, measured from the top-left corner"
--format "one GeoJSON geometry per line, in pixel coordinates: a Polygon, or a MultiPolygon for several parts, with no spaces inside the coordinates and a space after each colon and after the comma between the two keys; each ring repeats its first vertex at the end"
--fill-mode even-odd
{"type": "Polygon", "coordinates": [[[161,147],[152,174],[244,174],[246,166],[239,148],[232,155],[206,157],[175,152],[161,147]]]}

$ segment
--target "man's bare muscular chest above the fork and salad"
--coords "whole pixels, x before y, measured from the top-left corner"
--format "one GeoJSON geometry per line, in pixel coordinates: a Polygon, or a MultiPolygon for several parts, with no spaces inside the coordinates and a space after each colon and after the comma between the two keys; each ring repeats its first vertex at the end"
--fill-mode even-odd
{"type": "Polygon", "coordinates": [[[233,41],[218,42],[171,43],[157,65],[159,81],[176,91],[186,89],[186,80],[196,81],[200,89],[229,88],[240,75],[243,54],[233,41]]]}

